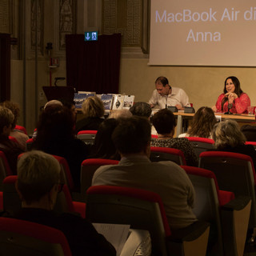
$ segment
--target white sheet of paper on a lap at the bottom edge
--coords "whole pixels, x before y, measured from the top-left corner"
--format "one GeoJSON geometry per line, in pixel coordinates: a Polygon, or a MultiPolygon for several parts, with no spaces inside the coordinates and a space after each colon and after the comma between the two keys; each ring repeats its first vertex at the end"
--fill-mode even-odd
{"type": "Polygon", "coordinates": [[[130,225],[106,223],[93,223],[93,225],[98,233],[104,235],[106,240],[114,246],[119,256],[128,238],[130,225]]]}

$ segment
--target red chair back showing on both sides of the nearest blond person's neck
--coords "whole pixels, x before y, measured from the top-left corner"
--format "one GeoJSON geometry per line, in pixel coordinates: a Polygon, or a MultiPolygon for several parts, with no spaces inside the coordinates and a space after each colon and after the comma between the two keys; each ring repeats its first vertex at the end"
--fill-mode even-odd
{"type": "MultiPolygon", "coordinates": [[[[3,180],[3,210],[14,214],[22,207],[22,201],[15,188],[17,175],[10,175],[3,180]]],[[[58,193],[54,210],[59,213],[74,212],[74,205],[68,187],[64,184],[62,192],[58,193]]]]}

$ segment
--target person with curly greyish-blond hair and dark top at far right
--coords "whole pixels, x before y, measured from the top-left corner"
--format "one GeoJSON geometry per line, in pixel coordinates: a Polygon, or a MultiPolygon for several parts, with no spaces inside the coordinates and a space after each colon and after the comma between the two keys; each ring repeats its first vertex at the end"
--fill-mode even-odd
{"type": "Polygon", "coordinates": [[[256,166],[254,146],[245,145],[246,137],[242,134],[238,123],[232,119],[215,124],[213,129],[214,146],[218,151],[229,151],[249,155],[256,166]]]}

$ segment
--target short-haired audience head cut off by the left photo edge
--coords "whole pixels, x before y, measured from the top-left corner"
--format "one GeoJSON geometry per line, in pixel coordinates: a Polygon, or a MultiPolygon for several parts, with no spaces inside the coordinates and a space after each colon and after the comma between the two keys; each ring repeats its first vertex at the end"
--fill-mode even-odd
{"type": "Polygon", "coordinates": [[[12,124],[14,123],[14,114],[5,106],[0,106],[0,134],[9,136],[12,124]]]}

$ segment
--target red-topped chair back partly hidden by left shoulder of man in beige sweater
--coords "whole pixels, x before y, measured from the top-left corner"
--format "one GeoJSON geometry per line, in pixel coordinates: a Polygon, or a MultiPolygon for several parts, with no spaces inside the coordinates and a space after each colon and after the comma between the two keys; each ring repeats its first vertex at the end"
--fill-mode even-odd
{"type": "Polygon", "coordinates": [[[111,159],[90,158],[81,164],[81,194],[85,194],[86,190],[91,186],[94,172],[100,166],[117,165],[119,161],[111,159]]]}

